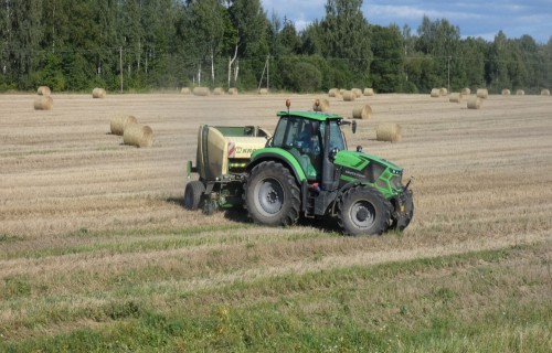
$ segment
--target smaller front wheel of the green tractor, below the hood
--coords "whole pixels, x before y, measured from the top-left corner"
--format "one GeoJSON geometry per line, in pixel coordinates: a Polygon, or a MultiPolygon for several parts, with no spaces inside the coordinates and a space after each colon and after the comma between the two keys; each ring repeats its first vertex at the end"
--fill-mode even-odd
{"type": "Polygon", "coordinates": [[[373,188],[351,188],[339,202],[338,224],[347,235],[381,235],[390,220],[391,203],[373,188]]]}

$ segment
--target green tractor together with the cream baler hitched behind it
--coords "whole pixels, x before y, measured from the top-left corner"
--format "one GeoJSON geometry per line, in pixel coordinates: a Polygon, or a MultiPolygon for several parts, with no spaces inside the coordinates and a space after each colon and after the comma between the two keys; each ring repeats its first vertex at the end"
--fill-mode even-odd
{"type": "Polygon", "coordinates": [[[243,206],[257,224],[287,226],[299,217],[337,218],[348,235],[403,231],[414,214],[403,169],[375,156],[349,151],[341,130],[355,121],[318,111],[279,111],[273,136],[254,127],[201,126],[197,165],[184,206],[243,206]]]}

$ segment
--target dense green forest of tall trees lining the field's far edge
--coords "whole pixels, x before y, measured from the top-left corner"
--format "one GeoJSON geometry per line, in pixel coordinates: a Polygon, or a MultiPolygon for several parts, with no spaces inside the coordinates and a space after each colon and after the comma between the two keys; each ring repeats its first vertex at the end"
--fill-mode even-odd
{"type": "Polygon", "coordinates": [[[0,92],[373,87],[428,93],[552,85],[552,36],[461,38],[446,19],[368,22],[362,0],[327,0],[298,31],[259,0],[0,0],[0,92]]]}

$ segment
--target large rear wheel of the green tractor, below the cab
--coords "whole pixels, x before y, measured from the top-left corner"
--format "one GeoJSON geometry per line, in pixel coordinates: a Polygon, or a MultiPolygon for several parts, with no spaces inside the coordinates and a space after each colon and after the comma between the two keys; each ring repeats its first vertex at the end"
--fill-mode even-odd
{"type": "Polygon", "coordinates": [[[257,224],[293,225],[299,218],[299,186],[287,168],[274,161],[263,162],[253,168],[247,179],[245,204],[257,224]]]}

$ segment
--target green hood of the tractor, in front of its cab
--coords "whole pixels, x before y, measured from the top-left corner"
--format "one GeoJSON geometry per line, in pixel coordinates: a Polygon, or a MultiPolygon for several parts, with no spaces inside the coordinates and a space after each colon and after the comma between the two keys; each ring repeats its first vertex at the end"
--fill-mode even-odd
{"type": "Polygon", "coordinates": [[[341,168],[341,180],[343,182],[353,180],[368,181],[382,188],[385,186],[385,189],[397,189],[402,185],[403,169],[376,156],[340,151],[337,153],[333,163],[336,167],[341,168]]]}

